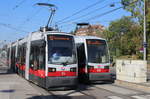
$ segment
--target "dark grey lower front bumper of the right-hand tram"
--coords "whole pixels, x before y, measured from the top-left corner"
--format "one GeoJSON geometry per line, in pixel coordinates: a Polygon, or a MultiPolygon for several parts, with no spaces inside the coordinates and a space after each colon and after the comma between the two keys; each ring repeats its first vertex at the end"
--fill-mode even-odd
{"type": "Polygon", "coordinates": [[[112,80],[111,73],[90,73],[90,81],[109,81],[112,80]]]}

